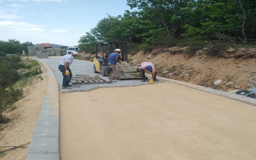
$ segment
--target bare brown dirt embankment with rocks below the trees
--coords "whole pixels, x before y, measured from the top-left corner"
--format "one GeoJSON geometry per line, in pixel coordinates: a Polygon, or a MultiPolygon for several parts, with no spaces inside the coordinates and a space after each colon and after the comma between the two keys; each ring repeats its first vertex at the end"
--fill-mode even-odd
{"type": "MultiPolygon", "coordinates": [[[[183,82],[197,84],[221,91],[251,89],[249,78],[256,78],[256,48],[222,51],[221,57],[213,57],[202,51],[194,56],[184,54],[186,47],[155,49],[152,52],[137,52],[129,55],[133,66],[142,61],[153,62],[157,75],[183,82]],[[214,82],[221,79],[221,83],[214,82]]],[[[92,61],[94,54],[81,53],[81,59],[92,61]]]]}

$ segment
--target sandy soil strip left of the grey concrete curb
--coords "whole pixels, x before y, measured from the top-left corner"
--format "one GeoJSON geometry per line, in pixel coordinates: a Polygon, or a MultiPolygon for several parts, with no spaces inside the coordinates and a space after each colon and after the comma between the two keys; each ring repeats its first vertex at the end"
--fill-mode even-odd
{"type": "MultiPolygon", "coordinates": [[[[23,97],[14,105],[13,111],[4,112],[11,119],[8,124],[0,124],[0,150],[9,149],[3,146],[19,146],[30,142],[36,127],[44,95],[47,89],[46,69],[41,65],[43,80],[33,79],[23,87],[23,97]]],[[[25,146],[25,147],[28,147],[25,146]]],[[[25,160],[28,148],[18,148],[0,155],[3,160],[25,160]]]]}

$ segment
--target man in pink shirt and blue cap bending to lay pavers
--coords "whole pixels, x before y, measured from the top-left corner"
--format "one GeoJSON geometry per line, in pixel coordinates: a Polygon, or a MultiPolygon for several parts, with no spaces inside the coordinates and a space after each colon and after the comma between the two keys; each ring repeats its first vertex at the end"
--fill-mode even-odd
{"type": "Polygon", "coordinates": [[[146,82],[145,70],[150,71],[152,73],[152,77],[149,80],[149,83],[159,81],[158,79],[156,79],[156,68],[154,64],[152,62],[142,62],[140,63],[140,67],[137,68],[137,76],[141,76],[142,82],[146,82]]]}

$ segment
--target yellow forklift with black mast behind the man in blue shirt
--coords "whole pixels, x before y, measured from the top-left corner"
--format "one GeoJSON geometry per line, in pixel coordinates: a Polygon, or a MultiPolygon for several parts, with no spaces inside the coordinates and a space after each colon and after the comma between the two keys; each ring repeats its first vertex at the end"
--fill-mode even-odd
{"type": "Polygon", "coordinates": [[[108,66],[108,56],[115,49],[121,49],[120,61],[128,62],[127,41],[107,41],[95,44],[95,58],[93,58],[93,72],[100,73],[101,76],[109,76],[111,68],[108,66]],[[98,56],[98,52],[101,52],[98,56]],[[104,54],[105,53],[105,54],[104,54]]]}

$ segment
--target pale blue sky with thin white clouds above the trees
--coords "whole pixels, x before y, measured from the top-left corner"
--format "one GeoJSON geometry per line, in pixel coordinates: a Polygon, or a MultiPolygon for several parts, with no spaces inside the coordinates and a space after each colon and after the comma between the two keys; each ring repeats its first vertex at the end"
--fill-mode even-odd
{"type": "Polygon", "coordinates": [[[126,0],[0,0],[0,40],[74,46],[107,13],[125,10],[126,0]]]}

